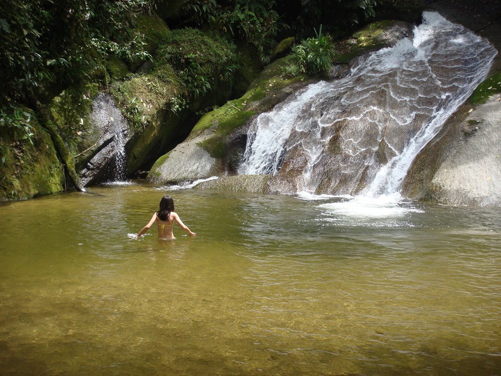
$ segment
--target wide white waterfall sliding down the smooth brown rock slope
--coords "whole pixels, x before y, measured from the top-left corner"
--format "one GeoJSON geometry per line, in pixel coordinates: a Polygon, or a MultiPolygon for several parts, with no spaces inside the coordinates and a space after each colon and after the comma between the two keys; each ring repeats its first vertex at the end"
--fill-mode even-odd
{"type": "Polygon", "coordinates": [[[425,12],[412,39],[258,116],[239,173],[292,177],[312,193],[398,193],[416,155],[486,77],[496,53],[485,39],[425,12]]]}

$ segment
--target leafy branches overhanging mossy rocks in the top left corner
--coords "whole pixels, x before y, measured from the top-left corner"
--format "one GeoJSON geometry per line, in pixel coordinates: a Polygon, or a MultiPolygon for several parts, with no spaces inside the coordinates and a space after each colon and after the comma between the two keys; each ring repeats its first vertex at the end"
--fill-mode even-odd
{"type": "Polygon", "coordinates": [[[0,18],[0,102],[27,101],[38,88],[75,82],[108,53],[145,57],[136,13],[152,0],[4,0],[0,18]]]}

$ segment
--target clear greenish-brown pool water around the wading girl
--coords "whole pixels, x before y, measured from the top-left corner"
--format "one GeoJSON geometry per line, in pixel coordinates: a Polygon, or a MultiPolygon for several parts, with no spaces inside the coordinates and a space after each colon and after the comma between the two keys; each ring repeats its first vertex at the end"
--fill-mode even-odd
{"type": "Polygon", "coordinates": [[[501,374],[501,210],[90,191],[0,206],[3,375],[501,374]]]}

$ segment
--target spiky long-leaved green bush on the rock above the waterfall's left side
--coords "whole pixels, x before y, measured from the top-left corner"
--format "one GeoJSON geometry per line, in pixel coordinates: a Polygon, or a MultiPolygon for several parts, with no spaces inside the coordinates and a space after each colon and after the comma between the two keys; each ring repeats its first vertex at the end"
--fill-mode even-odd
{"type": "Polygon", "coordinates": [[[311,75],[326,72],[332,65],[334,47],[330,36],[322,35],[322,26],[316,37],[301,41],[293,49],[300,72],[311,75]]]}

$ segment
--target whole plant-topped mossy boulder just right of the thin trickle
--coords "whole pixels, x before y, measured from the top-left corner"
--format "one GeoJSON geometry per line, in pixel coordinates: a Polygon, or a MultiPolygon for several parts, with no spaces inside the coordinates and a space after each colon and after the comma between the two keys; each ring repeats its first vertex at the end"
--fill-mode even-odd
{"type": "MultiPolygon", "coordinates": [[[[232,59],[231,46],[198,30],[176,30],[164,37],[148,73],[113,83],[110,93],[135,134],[127,145],[129,173],[147,169],[175,147],[200,118],[200,110],[227,101],[231,87],[221,77],[232,59]],[[186,56],[195,63],[197,74],[210,83],[206,92],[195,95],[191,91],[184,69],[192,66],[182,66],[186,56]]],[[[196,85],[196,79],[192,81],[196,85]]]]}

